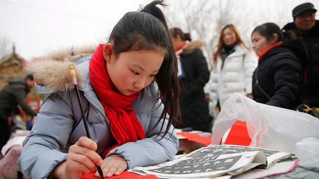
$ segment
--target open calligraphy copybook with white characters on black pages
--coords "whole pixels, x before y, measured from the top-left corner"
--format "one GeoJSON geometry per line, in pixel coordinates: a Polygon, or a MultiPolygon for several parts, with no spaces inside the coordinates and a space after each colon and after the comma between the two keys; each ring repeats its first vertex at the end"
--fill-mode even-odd
{"type": "Polygon", "coordinates": [[[235,176],[251,168],[270,168],[290,158],[290,152],[237,145],[209,145],[157,165],[135,167],[131,172],[159,178],[213,178],[235,176]]]}

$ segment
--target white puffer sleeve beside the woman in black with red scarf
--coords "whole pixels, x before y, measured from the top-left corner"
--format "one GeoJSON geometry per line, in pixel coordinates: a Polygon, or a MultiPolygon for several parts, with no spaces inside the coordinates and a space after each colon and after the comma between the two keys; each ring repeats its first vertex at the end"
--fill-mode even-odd
{"type": "Polygon", "coordinates": [[[247,51],[245,53],[244,63],[243,63],[246,95],[252,93],[252,77],[257,66],[258,66],[257,56],[253,55],[250,51],[247,51]]]}

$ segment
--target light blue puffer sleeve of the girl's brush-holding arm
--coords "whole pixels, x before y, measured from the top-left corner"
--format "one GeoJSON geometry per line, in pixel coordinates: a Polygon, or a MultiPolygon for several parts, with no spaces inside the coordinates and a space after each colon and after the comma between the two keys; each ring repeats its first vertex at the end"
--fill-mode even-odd
{"type": "Polygon", "coordinates": [[[65,149],[74,125],[72,108],[58,95],[41,107],[18,159],[19,170],[27,179],[46,179],[53,168],[66,159],[65,149]]]}

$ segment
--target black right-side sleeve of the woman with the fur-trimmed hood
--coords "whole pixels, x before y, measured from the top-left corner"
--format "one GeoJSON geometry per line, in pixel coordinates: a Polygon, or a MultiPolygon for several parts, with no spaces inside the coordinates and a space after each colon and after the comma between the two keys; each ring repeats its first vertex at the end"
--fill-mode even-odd
{"type": "Polygon", "coordinates": [[[208,70],[207,61],[203,52],[200,49],[195,49],[193,51],[193,65],[195,69],[195,73],[197,74],[196,81],[192,86],[191,91],[199,91],[203,90],[205,84],[210,79],[210,72],[208,70]]]}

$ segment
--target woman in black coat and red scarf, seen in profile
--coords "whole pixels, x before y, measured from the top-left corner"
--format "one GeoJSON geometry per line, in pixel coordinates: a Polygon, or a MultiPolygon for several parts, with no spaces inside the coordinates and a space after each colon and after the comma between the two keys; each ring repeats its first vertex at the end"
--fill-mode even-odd
{"type": "Polygon", "coordinates": [[[273,23],[257,26],[251,35],[253,49],[259,56],[253,74],[253,99],[277,107],[293,109],[298,103],[302,65],[306,57],[301,39],[289,42],[273,23]]]}

